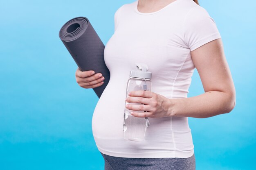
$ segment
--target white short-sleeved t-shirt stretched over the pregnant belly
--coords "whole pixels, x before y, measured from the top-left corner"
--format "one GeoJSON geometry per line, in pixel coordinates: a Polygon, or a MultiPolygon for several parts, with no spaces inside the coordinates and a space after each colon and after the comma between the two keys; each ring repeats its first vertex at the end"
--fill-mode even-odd
{"type": "MultiPolygon", "coordinates": [[[[126,84],[135,63],[152,72],[152,92],[187,98],[195,65],[191,51],[221,38],[208,12],[193,0],[176,0],[152,13],[141,13],[138,0],[115,13],[115,33],[104,50],[110,81],[92,117],[92,132],[102,153],[115,157],[191,157],[194,145],[187,117],[149,118],[142,142],[124,139],[126,84]]],[[[184,106],[186,107],[186,106],[184,106]]]]}

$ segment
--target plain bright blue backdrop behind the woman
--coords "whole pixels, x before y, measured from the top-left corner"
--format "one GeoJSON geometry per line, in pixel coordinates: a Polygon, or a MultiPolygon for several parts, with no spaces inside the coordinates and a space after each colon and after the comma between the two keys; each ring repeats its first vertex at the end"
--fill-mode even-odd
{"type": "MultiPolygon", "coordinates": [[[[91,120],[98,98],[75,80],[58,37],[67,20],[88,17],[106,45],[114,13],[133,0],[0,1],[0,169],[103,170],[91,120]]],[[[256,1],[200,0],[216,21],[236,87],[236,107],[189,118],[198,170],[255,169],[256,1]]],[[[188,96],[204,93],[195,70],[188,96]]]]}

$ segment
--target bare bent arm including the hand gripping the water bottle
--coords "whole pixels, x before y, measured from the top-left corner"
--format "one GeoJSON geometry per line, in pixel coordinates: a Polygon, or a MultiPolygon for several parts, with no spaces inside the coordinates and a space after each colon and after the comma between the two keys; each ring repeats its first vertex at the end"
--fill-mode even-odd
{"type": "Polygon", "coordinates": [[[189,98],[166,98],[154,92],[132,91],[126,102],[144,105],[126,105],[127,109],[134,111],[131,114],[148,118],[208,118],[229,113],[236,105],[236,92],[221,38],[191,51],[191,57],[200,75],[204,94],[189,98]],[[147,112],[138,113],[137,110],[147,112]]]}

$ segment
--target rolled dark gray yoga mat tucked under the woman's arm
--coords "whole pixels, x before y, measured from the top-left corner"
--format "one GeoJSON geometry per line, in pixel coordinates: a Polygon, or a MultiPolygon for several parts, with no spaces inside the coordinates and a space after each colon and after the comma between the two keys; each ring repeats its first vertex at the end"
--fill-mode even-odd
{"type": "Polygon", "coordinates": [[[67,21],[59,32],[59,37],[81,71],[94,70],[101,73],[104,83],[93,88],[100,98],[106,88],[110,72],[104,61],[104,44],[86,17],[75,17],[67,21]]]}

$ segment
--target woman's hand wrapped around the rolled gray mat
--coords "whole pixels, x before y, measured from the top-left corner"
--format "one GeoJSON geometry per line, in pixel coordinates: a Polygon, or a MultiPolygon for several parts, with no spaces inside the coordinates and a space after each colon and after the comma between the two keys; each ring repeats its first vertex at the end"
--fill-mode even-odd
{"type": "Polygon", "coordinates": [[[76,70],[76,82],[79,86],[89,89],[101,86],[104,82],[104,77],[101,73],[95,74],[93,70],[82,72],[77,68],[76,70]],[[93,74],[92,74],[93,73],[93,74]]]}

